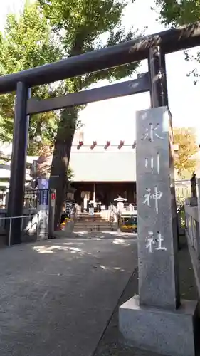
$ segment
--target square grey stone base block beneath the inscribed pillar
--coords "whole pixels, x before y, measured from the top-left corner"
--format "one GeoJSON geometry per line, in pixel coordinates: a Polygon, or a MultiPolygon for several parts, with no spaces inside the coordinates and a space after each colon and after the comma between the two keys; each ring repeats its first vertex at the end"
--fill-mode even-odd
{"type": "Polygon", "coordinates": [[[181,300],[177,310],[144,307],[135,295],[119,310],[123,342],[132,347],[170,356],[195,355],[197,302],[181,300]]]}

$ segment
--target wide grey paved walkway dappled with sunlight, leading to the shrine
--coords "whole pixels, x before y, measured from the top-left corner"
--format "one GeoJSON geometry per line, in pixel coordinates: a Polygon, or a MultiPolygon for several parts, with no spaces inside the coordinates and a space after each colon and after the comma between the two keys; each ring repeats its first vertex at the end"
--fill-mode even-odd
{"type": "Polygon", "coordinates": [[[0,250],[0,355],[92,356],[137,267],[137,240],[55,239],[0,250]]]}

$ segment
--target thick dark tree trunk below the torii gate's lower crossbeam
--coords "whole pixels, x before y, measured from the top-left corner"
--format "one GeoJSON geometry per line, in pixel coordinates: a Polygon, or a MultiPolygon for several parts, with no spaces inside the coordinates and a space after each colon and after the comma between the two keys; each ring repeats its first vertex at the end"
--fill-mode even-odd
{"type": "Polygon", "coordinates": [[[65,186],[68,179],[68,164],[70,161],[70,151],[77,117],[77,108],[66,108],[61,113],[60,123],[58,126],[51,166],[51,187],[56,189],[54,229],[57,229],[58,224],[60,224],[60,213],[63,205],[63,199],[65,199],[65,186]]]}

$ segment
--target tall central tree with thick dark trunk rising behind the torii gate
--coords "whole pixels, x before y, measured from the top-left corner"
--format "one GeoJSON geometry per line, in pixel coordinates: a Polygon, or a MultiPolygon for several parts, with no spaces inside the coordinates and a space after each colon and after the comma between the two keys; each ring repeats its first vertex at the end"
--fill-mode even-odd
{"type": "MultiPolygon", "coordinates": [[[[130,28],[122,27],[122,16],[127,0],[39,0],[53,32],[58,36],[65,56],[77,56],[115,45],[137,36],[130,28]]],[[[65,93],[88,88],[98,80],[115,80],[130,75],[137,63],[112,68],[98,73],[90,73],[78,78],[65,80],[65,93]]],[[[61,112],[51,175],[59,172],[56,184],[56,222],[60,214],[61,201],[65,189],[65,172],[68,170],[73,135],[80,108],[68,108],[61,112]],[[61,178],[63,177],[63,179],[61,178]]]]}

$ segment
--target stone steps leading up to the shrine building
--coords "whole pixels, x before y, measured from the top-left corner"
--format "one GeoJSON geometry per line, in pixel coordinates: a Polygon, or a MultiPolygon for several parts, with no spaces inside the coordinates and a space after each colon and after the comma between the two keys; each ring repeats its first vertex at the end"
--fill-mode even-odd
{"type": "Polygon", "coordinates": [[[73,231],[117,231],[117,223],[107,221],[100,213],[82,213],[76,216],[73,231]]]}

